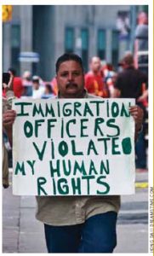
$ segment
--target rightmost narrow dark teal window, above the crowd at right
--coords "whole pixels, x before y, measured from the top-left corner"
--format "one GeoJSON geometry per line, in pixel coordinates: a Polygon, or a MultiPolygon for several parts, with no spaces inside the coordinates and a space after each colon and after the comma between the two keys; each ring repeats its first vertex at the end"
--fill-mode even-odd
{"type": "Polygon", "coordinates": [[[118,63],[118,47],[119,47],[119,33],[116,30],[112,31],[111,34],[111,62],[114,67],[117,67],[118,63]]]}

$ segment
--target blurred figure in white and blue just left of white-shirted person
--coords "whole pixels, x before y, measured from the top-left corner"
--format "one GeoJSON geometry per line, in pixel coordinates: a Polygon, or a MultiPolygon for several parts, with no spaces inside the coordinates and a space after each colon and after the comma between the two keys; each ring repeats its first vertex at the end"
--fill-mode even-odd
{"type": "Polygon", "coordinates": [[[31,81],[31,72],[25,71],[22,76],[22,83],[24,86],[23,96],[32,96],[32,81],[31,81]]]}

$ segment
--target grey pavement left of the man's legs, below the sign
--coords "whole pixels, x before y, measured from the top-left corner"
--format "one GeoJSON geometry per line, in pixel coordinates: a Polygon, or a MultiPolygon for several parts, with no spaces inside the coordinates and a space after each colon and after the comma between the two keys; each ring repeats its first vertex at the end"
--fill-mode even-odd
{"type": "Polygon", "coordinates": [[[3,253],[46,253],[43,224],[35,218],[34,196],[3,189],[3,253]]]}

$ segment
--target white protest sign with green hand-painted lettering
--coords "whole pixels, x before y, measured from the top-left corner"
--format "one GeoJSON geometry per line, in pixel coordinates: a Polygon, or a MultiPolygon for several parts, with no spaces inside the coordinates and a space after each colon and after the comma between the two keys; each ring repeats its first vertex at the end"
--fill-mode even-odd
{"type": "Polygon", "coordinates": [[[14,195],[134,193],[133,99],[14,100],[14,195]]]}

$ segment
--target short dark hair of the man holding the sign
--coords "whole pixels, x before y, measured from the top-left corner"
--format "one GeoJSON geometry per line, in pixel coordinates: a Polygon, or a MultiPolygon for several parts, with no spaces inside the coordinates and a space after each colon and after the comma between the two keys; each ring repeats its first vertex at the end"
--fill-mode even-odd
{"type": "Polygon", "coordinates": [[[61,55],[58,58],[58,60],[55,64],[56,73],[58,73],[61,63],[65,62],[65,61],[76,61],[83,69],[83,61],[78,55],[75,55],[72,53],[65,53],[64,55],[61,55]]]}

